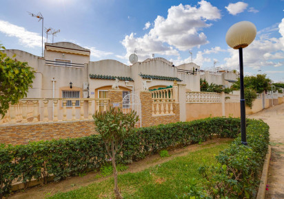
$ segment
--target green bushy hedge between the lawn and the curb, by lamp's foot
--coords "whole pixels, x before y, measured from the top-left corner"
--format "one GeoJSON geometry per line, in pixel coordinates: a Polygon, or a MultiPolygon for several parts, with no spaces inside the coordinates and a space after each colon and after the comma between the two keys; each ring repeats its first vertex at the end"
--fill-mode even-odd
{"type": "Polygon", "coordinates": [[[247,122],[247,143],[241,144],[241,134],[227,150],[216,156],[217,165],[201,166],[199,173],[207,182],[207,192],[213,198],[253,198],[259,185],[265,155],[270,141],[269,126],[261,120],[247,122]]]}

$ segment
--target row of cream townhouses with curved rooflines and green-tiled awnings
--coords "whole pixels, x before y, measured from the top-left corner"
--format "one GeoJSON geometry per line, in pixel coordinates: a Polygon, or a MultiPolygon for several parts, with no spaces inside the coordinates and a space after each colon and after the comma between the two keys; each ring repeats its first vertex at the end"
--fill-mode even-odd
{"type": "MultiPolygon", "coordinates": [[[[16,54],[17,60],[28,62],[36,71],[27,98],[107,98],[115,78],[119,79],[123,96],[130,92],[138,94],[145,80],[148,80],[149,89],[170,86],[176,80],[186,84],[187,90],[200,91],[199,72],[195,71],[200,67],[194,63],[174,67],[164,58],[147,59],[133,65],[116,60],[92,62],[90,49],[68,42],[45,43],[43,58],[15,49],[5,52],[11,57],[16,54]]],[[[70,103],[67,106],[71,106],[70,103]]]]}

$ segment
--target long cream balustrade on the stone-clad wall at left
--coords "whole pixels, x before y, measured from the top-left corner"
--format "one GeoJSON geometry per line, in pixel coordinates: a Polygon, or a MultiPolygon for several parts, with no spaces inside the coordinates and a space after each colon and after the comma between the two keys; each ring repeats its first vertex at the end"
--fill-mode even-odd
{"type": "Polygon", "coordinates": [[[0,124],[92,119],[95,111],[108,110],[108,98],[37,98],[10,105],[0,124]]]}

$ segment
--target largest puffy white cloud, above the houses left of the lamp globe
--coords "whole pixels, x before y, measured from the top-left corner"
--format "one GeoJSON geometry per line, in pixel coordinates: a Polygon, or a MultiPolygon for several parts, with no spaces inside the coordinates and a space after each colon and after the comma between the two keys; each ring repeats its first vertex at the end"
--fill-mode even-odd
{"type": "Polygon", "coordinates": [[[152,54],[179,56],[177,49],[185,51],[208,43],[201,30],[212,25],[207,21],[217,19],[221,19],[220,10],[204,0],[199,1],[196,6],[172,6],[168,10],[167,18],[156,17],[148,34],[136,37],[131,33],[125,36],[121,42],[127,51],[125,57],[132,54],[135,48],[142,49],[139,60],[150,58],[152,54]]]}

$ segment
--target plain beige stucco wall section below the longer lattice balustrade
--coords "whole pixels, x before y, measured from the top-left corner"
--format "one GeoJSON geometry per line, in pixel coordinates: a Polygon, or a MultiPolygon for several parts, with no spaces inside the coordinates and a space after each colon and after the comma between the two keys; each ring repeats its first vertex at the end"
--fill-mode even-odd
{"type": "Polygon", "coordinates": [[[206,117],[221,117],[222,116],[222,104],[221,103],[187,103],[186,108],[186,121],[192,121],[194,119],[202,119],[206,117]]]}

